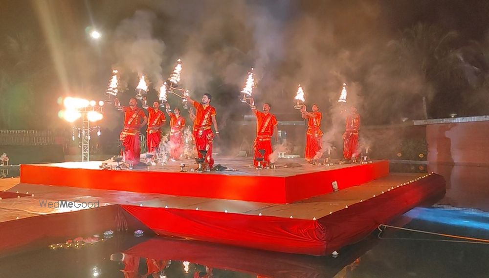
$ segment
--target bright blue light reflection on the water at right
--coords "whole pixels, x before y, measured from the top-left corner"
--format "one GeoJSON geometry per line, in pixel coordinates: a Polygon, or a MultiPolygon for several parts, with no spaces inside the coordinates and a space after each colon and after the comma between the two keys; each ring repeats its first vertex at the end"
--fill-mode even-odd
{"type": "Polygon", "coordinates": [[[489,212],[474,209],[417,207],[405,213],[405,216],[435,223],[489,231],[489,212]]]}

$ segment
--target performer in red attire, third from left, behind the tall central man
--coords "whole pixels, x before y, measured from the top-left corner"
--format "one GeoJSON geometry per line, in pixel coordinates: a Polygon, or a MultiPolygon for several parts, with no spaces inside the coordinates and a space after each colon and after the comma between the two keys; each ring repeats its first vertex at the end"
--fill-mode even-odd
{"type": "Polygon", "coordinates": [[[175,161],[183,153],[183,129],[185,119],[180,116],[180,109],[175,108],[175,114],[170,112],[170,104],[166,104],[166,113],[170,116],[170,158],[175,161]]]}

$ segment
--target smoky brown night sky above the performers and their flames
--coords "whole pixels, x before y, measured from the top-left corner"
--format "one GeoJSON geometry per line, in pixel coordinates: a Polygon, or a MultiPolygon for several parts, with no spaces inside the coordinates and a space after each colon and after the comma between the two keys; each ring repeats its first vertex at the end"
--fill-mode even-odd
{"type": "Polygon", "coordinates": [[[297,114],[299,83],[306,104],[328,114],[343,82],[364,124],[422,119],[423,96],[429,118],[487,115],[488,14],[483,0],[4,0],[0,128],[65,127],[58,97],[104,99],[111,68],[121,70],[122,101],[141,73],[156,99],[178,58],[183,85],[196,99],[211,92],[221,122],[249,113],[238,99],[251,67],[255,99],[279,115],[297,114]]]}

